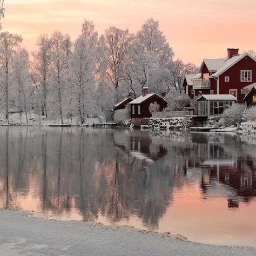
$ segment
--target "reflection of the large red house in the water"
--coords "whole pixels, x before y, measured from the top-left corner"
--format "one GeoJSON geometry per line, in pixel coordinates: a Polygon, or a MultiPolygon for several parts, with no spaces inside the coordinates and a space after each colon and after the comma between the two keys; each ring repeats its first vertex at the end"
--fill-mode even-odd
{"type": "MultiPolygon", "coordinates": [[[[201,169],[201,188],[208,197],[215,193],[227,196],[228,208],[238,208],[239,200],[250,201],[256,196],[255,160],[247,156],[235,156],[234,152],[218,136],[197,139],[195,156],[187,161],[188,169],[201,169]]],[[[225,137],[223,137],[225,139],[225,137]]]]}

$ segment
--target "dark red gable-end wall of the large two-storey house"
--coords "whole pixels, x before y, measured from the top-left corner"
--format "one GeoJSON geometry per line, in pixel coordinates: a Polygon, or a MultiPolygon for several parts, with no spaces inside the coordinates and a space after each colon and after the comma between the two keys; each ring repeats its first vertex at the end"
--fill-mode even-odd
{"type": "Polygon", "coordinates": [[[242,103],[245,97],[241,89],[256,82],[256,62],[246,56],[219,77],[219,93],[229,94],[230,89],[237,89],[238,102],[242,103]],[[252,70],[252,82],[240,82],[241,70],[252,70]],[[225,82],[225,76],[230,77],[230,82],[225,82]]]}

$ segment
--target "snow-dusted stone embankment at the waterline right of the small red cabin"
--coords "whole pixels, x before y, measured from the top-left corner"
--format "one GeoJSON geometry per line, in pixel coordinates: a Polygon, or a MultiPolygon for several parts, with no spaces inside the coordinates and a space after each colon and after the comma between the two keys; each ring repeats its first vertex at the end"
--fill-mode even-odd
{"type": "Polygon", "coordinates": [[[192,125],[192,120],[185,117],[150,118],[149,129],[188,129],[192,125]]]}

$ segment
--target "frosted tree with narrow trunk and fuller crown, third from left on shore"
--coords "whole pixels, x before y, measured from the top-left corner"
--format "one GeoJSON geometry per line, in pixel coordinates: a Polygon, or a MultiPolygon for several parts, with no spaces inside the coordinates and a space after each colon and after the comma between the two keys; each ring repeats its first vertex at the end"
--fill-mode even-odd
{"type": "MultiPolygon", "coordinates": [[[[37,51],[32,52],[31,76],[35,86],[39,86],[42,102],[42,116],[48,117],[47,98],[49,93],[49,69],[51,60],[51,41],[48,35],[41,35],[37,39],[37,51]]],[[[38,89],[39,89],[38,87],[38,89]]]]}

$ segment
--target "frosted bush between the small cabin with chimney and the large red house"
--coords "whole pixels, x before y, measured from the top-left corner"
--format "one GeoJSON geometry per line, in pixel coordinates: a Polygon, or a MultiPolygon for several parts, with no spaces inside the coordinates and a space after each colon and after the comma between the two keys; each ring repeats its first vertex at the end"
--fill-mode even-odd
{"type": "Polygon", "coordinates": [[[167,107],[165,111],[178,111],[182,107],[190,104],[190,97],[185,92],[180,92],[172,88],[165,96],[167,107]]]}

